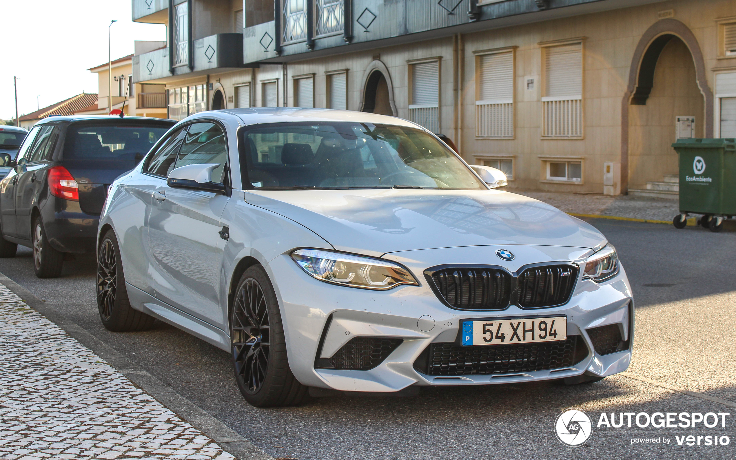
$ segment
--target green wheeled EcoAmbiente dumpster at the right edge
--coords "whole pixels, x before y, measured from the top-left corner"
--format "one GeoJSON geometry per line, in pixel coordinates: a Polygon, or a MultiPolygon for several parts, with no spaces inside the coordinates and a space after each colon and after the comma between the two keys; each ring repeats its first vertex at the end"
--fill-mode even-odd
{"type": "Polygon", "coordinates": [[[689,213],[702,214],[698,223],[721,231],[723,219],[736,216],[736,139],[678,139],[680,214],[672,223],[687,224],[689,213]]]}

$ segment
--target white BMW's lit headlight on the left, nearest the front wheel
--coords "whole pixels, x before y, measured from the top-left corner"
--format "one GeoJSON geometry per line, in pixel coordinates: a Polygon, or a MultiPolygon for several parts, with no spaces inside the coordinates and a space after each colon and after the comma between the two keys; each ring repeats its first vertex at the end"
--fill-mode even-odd
{"type": "Polygon", "coordinates": [[[418,286],[398,263],[322,250],[296,250],[291,258],[309,275],[325,283],[364,289],[392,289],[400,284],[418,286]]]}

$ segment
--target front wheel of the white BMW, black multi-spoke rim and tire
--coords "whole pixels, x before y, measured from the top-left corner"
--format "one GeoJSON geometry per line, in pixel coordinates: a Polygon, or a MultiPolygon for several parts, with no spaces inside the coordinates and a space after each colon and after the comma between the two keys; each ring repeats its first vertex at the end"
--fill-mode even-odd
{"type": "Polygon", "coordinates": [[[238,281],[230,343],[238,389],[252,406],[296,406],[307,397],[308,387],[289,369],[276,293],[260,265],[238,281]]]}

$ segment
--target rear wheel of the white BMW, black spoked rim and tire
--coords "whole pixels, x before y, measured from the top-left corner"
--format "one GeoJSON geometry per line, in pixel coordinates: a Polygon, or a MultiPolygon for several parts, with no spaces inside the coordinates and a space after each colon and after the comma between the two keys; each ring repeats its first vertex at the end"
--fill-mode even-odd
{"type": "Polygon", "coordinates": [[[130,306],[120,247],[113,230],[102,237],[97,253],[97,309],[105,329],[113,332],[146,330],[155,318],[130,306]]]}

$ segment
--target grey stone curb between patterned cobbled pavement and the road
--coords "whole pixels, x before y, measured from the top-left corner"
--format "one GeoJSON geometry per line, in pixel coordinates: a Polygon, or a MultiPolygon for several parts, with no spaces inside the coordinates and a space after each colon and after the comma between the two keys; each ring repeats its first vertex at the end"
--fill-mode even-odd
{"type": "Polygon", "coordinates": [[[150,394],[159,403],[169,408],[174,414],[177,414],[183,420],[188,422],[194,428],[202,431],[202,434],[209,436],[223,450],[232,454],[238,460],[275,460],[269,454],[263,452],[252,442],[245,439],[240,434],[233,431],[223,422],[199,408],[199,406],[191,403],[188,399],[177,393],[170,386],[155,378],[146,370],[138,367],[138,364],[130,361],[115,349],[109,347],[102,340],[97,339],[91,333],[82,329],[77,323],[71,321],[63,314],[60,314],[55,308],[46,305],[43,300],[38,299],[23,286],[15,283],[9,277],[0,273],[0,283],[4,284],[13,294],[21,297],[21,300],[33,308],[38,313],[46,316],[55,325],[59,326],[69,336],[76,339],[77,342],[87,347],[92,353],[107,361],[111,367],[124,375],[128,380],[150,394]]]}

